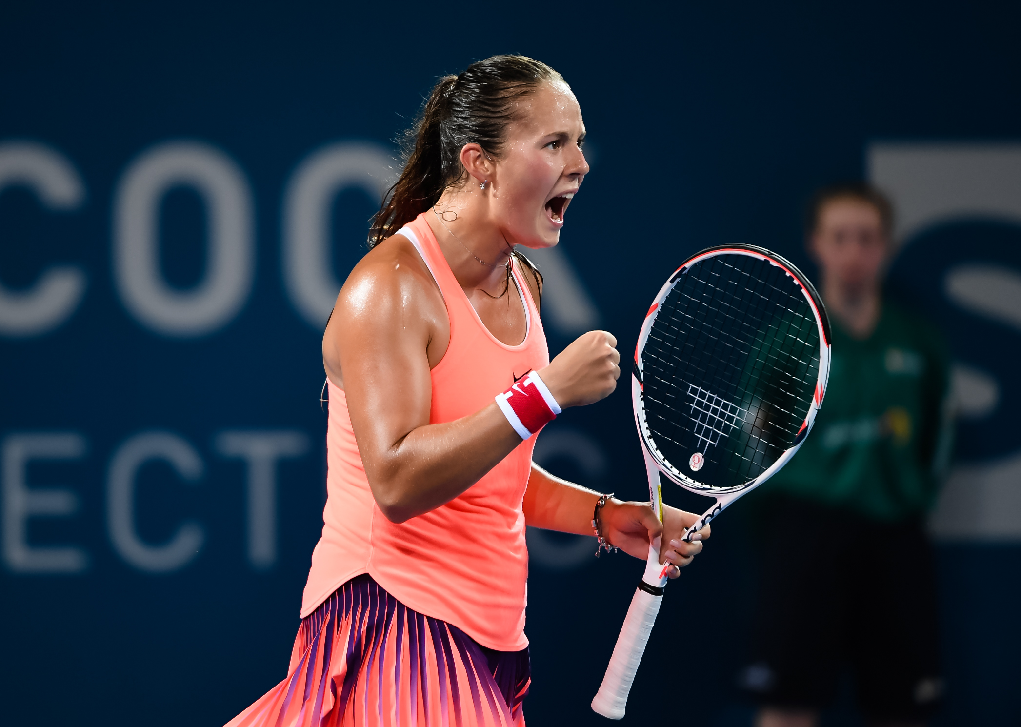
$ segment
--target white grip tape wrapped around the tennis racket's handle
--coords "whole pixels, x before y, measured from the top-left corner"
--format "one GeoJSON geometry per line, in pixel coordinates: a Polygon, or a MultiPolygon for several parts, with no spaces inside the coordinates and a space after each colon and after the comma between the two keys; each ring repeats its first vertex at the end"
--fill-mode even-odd
{"type": "Polygon", "coordinates": [[[628,692],[631,691],[631,684],[635,680],[635,673],[641,663],[641,656],[645,652],[645,644],[662,602],[662,595],[652,595],[641,588],[635,589],[627,618],[624,619],[624,627],[614,646],[614,656],[610,658],[610,666],[606,667],[599,691],[592,699],[592,710],[603,717],[612,720],[624,717],[628,692]]]}

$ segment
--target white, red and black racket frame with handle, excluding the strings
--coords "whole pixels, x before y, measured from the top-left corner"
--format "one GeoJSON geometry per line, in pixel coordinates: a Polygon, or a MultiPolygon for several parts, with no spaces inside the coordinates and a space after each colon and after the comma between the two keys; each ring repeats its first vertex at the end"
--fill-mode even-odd
{"type": "MultiPolygon", "coordinates": [[[[649,306],[648,312],[645,313],[645,320],[642,323],[641,332],[638,335],[638,342],[635,345],[635,356],[633,359],[634,368],[631,375],[631,400],[635,417],[635,426],[638,429],[639,439],[642,443],[642,455],[645,461],[645,474],[648,477],[649,501],[651,502],[652,507],[655,511],[655,515],[660,519],[661,523],[663,522],[663,489],[660,480],[661,472],[671,482],[680,485],[689,492],[714,497],[716,499],[713,506],[707,510],[702,516],[695,521],[693,525],[691,525],[691,527],[684,531],[683,539],[690,542],[692,535],[709,525],[710,522],[717,518],[720,513],[726,510],[728,505],[766,482],[784,465],[786,465],[790,461],[790,457],[794,456],[809,432],[812,431],[812,426],[816,421],[816,415],[818,414],[819,407],[822,405],[823,398],[826,395],[826,384],[829,380],[831,341],[832,333],[830,330],[829,318],[826,314],[826,308],[823,305],[822,298],[819,296],[819,292],[815,289],[808,278],[806,278],[805,275],[797,270],[797,268],[785,258],[771,252],[770,250],[757,247],[755,245],[720,245],[717,247],[710,247],[692,255],[685,260],[680,268],[674,271],[674,274],[670,276],[667,282],[664,283],[663,287],[660,288],[660,292],[652,301],[652,305],[649,306]],[[771,467],[748,482],[727,488],[717,488],[698,482],[697,480],[694,480],[680,472],[676,468],[671,467],[667,463],[666,457],[657,448],[654,441],[652,441],[651,432],[649,431],[648,424],[645,421],[644,393],[642,388],[644,367],[642,365],[641,353],[645,347],[645,342],[648,340],[648,334],[652,330],[652,324],[655,322],[655,318],[659,314],[663,301],[674,289],[674,286],[676,286],[680,281],[681,276],[684,275],[684,273],[686,273],[692,265],[710,257],[725,253],[743,254],[766,260],[770,264],[780,268],[788,277],[793,279],[793,282],[799,286],[801,293],[809,301],[809,305],[812,306],[813,312],[815,313],[816,324],[819,328],[820,346],[819,373],[816,380],[816,390],[812,397],[812,402],[809,405],[809,411],[805,417],[805,422],[801,424],[801,427],[795,436],[794,442],[790,445],[790,447],[784,450],[779,457],[777,457],[777,461],[773,463],[771,467]]],[[[655,622],[655,617],[659,614],[660,605],[663,601],[664,587],[667,584],[667,572],[670,569],[670,564],[660,564],[660,549],[661,538],[655,538],[651,543],[649,543],[648,558],[645,561],[645,572],[642,574],[642,579],[631,599],[631,605],[628,609],[627,617],[624,620],[624,626],[621,629],[621,634],[614,647],[614,653],[606,667],[606,673],[603,676],[602,684],[599,686],[599,691],[592,699],[592,710],[604,717],[609,717],[610,719],[619,720],[624,717],[625,709],[627,707],[628,693],[631,690],[631,684],[634,681],[638,665],[645,651],[645,645],[648,642],[649,635],[652,631],[652,625],[655,622]]]]}

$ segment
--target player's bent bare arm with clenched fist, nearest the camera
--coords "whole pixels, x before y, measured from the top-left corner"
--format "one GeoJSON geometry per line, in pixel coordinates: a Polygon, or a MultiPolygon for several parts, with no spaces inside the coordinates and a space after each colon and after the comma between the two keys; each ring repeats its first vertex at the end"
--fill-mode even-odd
{"type": "MultiPolygon", "coordinates": [[[[324,352],[339,360],[373,496],[388,520],[400,523],[463,493],[522,440],[495,401],[454,422],[429,424],[428,349],[437,333],[431,311],[443,301],[422,263],[391,247],[367,255],[352,272],[324,352]]],[[[609,333],[592,331],[540,372],[562,407],[598,401],[614,390],[616,343],[609,333]]]]}

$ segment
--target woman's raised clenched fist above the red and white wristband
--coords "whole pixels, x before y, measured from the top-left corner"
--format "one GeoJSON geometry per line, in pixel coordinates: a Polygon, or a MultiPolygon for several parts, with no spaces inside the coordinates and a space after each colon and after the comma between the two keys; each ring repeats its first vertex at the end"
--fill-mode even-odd
{"type": "Polygon", "coordinates": [[[614,392],[621,376],[621,354],[616,345],[613,334],[589,331],[539,371],[561,408],[591,404],[614,392]]]}

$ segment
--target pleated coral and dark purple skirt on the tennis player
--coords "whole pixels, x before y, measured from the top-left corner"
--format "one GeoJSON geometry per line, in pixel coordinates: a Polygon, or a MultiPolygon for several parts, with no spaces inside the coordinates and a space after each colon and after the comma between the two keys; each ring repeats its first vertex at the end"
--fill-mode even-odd
{"type": "Polygon", "coordinates": [[[488,649],[369,575],[298,629],[287,678],[228,727],[524,727],[528,648],[488,649]]]}

